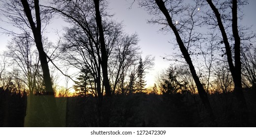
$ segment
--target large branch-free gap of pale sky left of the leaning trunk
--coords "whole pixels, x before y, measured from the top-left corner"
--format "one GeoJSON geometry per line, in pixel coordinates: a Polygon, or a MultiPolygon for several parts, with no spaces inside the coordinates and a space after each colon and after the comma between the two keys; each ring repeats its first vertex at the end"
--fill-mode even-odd
{"type": "Polygon", "coordinates": [[[146,86],[150,87],[154,85],[158,73],[169,66],[163,57],[170,54],[173,47],[168,41],[173,37],[159,32],[158,25],[147,23],[152,17],[143,8],[139,8],[137,3],[134,2],[131,6],[131,1],[133,0],[110,0],[110,12],[115,13],[114,19],[124,23],[125,32],[138,34],[142,59],[146,55],[155,57],[155,66],[147,71],[145,77],[146,86]]]}

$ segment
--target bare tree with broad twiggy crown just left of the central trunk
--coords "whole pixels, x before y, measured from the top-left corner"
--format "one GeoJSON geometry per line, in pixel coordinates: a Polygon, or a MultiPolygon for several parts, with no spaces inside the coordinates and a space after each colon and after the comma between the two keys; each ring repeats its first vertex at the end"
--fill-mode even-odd
{"type": "MultiPolygon", "coordinates": [[[[89,24],[88,24],[89,25],[89,24]]],[[[93,28],[92,28],[93,29],[93,28]]],[[[91,30],[92,31],[92,30],[91,30]]],[[[79,71],[87,71],[94,79],[91,84],[96,97],[101,98],[101,68],[99,60],[99,48],[92,43],[90,37],[79,27],[67,28],[64,40],[61,44],[60,58],[67,65],[77,68],[79,71]]]]}

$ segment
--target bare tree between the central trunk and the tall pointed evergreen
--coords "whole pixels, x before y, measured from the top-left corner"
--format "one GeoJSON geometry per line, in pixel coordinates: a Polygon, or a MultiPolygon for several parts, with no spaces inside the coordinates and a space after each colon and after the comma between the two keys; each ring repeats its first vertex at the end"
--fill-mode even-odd
{"type": "Polygon", "coordinates": [[[128,70],[134,62],[138,60],[140,48],[136,46],[138,43],[137,34],[122,34],[114,46],[113,54],[109,56],[109,75],[111,84],[113,85],[113,93],[117,88],[122,94],[126,90],[126,78],[128,77],[128,70]]]}

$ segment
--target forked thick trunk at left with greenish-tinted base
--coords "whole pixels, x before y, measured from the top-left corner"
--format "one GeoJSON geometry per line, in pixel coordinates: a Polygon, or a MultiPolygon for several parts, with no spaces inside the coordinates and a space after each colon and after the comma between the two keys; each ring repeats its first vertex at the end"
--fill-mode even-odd
{"type": "Polygon", "coordinates": [[[21,2],[24,8],[24,12],[26,13],[29,24],[31,26],[32,33],[34,36],[35,46],[37,47],[37,50],[39,53],[39,59],[40,59],[40,63],[43,71],[43,80],[44,80],[46,95],[47,95],[45,97],[42,96],[41,98],[43,100],[41,100],[41,99],[35,99],[33,94],[30,94],[30,97],[28,99],[28,105],[27,105],[27,115],[25,118],[25,126],[60,127],[62,125],[60,122],[59,112],[57,109],[54,91],[52,88],[52,82],[51,82],[47,57],[46,57],[46,53],[43,50],[43,44],[42,44],[39,0],[34,0],[36,24],[33,21],[32,12],[31,12],[28,1],[21,0],[21,2]],[[44,109],[39,110],[38,106],[42,106],[42,108],[44,109]],[[40,119],[46,119],[46,121],[43,120],[41,121],[41,123],[37,122],[38,120],[40,121],[40,119]]]}

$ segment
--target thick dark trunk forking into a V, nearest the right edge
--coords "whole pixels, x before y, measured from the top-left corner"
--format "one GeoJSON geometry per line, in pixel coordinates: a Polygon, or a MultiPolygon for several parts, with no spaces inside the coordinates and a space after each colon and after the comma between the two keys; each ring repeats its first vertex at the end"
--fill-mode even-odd
{"type": "Polygon", "coordinates": [[[237,99],[238,103],[238,115],[241,116],[242,121],[244,121],[245,124],[248,123],[248,109],[247,109],[247,104],[246,100],[244,97],[243,93],[243,88],[242,88],[242,72],[241,72],[241,41],[238,33],[238,26],[237,26],[237,0],[232,1],[232,32],[233,32],[233,37],[234,37],[234,49],[235,49],[235,58],[234,58],[234,63],[233,64],[233,59],[232,59],[232,54],[231,54],[231,48],[228,42],[228,38],[225,32],[224,25],[221,20],[221,14],[219,13],[218,9],[215,7],[213,4],[212,0],[207,0],[208,4],[210,5],[211,9],[213,10],[217,21],[219,28],[222,33],[223,37],[223,42],[225,45],[225,50],[226,50],[226,56],[227,56],[227,61],[229,65],[229,70],[231,72],[233,82],[234,82],[234,94],[237,99]]]}

